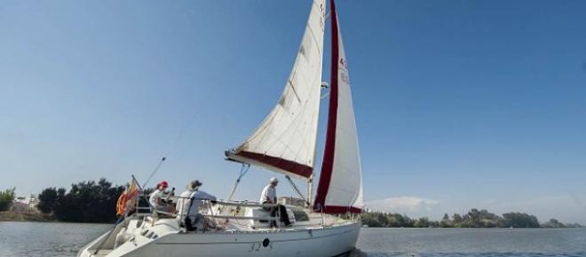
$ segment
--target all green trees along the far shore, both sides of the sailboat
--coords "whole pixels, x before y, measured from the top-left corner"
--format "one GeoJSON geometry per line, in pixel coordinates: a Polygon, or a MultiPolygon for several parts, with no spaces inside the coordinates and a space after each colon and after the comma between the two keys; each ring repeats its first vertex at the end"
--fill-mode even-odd
{"type": "MultiPolygon", "coordinates": [[[[114,222],[115,206],[124,186],[113,185],[106,179],[81,181],[64,188],[43,189],[38,195],[36,208],[57,221],[114,222]]],[[[10,209],[15,189],[0,191],[0,211],[10,209]]],[[[152,189],[146,189],[146,193],[152,189]]],[[[487,210],[471,209],[468,213],[446,213],[441,221],[427,217],[412,219],[399,213],[367,212],[361,214],[362,223],[373,228],[575,228],[580,224],[565,224],[556,219],[540,223],[537,217],[527,213],[503,213],[497,215],[487,210]]]]}

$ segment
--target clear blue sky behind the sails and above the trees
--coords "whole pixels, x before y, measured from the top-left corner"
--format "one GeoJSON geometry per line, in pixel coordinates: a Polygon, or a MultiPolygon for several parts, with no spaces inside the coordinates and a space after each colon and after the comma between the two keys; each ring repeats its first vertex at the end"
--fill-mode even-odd
{"type": "MultiPolygon", "coordinates": [[[[169,153],[151,185],[227,197],[239,166],[223,151],[281,94],[310,4],[2,2],[0,189],[144,181],[169,153]]],[[[586,3],[337,7],[373,207],[586,223],[586,3]]],[[[238,197],[272,175],[253,169],[238,197]]]]}

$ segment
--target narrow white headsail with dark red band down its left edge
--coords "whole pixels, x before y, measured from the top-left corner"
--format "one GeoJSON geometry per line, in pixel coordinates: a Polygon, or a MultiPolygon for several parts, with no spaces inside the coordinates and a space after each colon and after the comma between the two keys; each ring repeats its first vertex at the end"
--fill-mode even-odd
{"type": "Polygon", "coordinates": [[[348,63],[334,0],[330,0],[330,6],[332,66],[328,130],[313,207],[324,213],[360,213],[363,205],[362,174],[348,63]]]}

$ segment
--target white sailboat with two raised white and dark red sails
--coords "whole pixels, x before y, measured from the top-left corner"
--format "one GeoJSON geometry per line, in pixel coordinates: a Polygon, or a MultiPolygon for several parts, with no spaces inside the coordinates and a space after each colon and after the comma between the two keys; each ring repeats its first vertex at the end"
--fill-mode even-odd
{"type": "MultiPolygon", "coordinates": [[[[204,201],[203,228],[186,229],[179,214],[133,213],[85,245],[77,256],[337,256],[351,251],[360,233],[360,150],[344,44],[334,0],[313,0],[305,33],[281,98],[265,120],[226,159],[284,174],[303,199],[285,205],[289,226],[271,228],[267,205],[204,201]],[[331,77],[325,148],[317,192],[313,179],[322,88],[323,39],[331,19],[331,77]],[[295,185],[307,182],[304,196],[295,185]],[[176,216],[174,217],[173,214],[176,216]]],[[[242,173],[242,172],[241,172],[242,173]]],[[[234,188],[235,189],[235,188],[234,188]]],[[[233,190],[234,194],[234,190],[233,190]]],[[[139,208],[139,207],[137,207],[139,208]]]]}

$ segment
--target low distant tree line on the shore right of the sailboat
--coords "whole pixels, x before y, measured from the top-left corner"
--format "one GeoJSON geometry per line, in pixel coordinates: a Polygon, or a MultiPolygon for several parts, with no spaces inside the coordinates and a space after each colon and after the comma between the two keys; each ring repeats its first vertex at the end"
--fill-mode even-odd
{"type": "Polygon", "coordinates": [[[362,223],[373,228],[579,228],[580,224],[564,224],[556,219],[540,223],[537,217],[527,213],[503,213],[497,215],[487,210],[471,209],[468,213],[444,214],[441,221],[427,217],[411,219],[399,213],[362,213],[362,223]]]}

